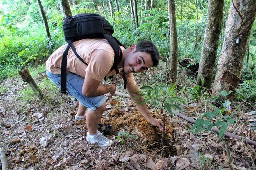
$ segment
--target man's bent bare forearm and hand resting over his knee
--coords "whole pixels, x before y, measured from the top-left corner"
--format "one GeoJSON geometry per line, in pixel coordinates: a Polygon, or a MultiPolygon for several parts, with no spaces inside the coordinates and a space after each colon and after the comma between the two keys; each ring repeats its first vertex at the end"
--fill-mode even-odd
{"type": "Polygon", "coordinates": [[[113,96],[116,91],[114,84],[103,85],[101,81],[91,78],[88,74],[85,74],[84,84],[82,88],[83,95],[87,97],[94,97],[110,93],[107,97],[113,96]]]}

